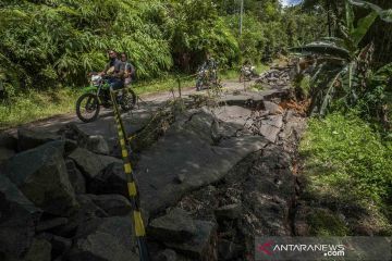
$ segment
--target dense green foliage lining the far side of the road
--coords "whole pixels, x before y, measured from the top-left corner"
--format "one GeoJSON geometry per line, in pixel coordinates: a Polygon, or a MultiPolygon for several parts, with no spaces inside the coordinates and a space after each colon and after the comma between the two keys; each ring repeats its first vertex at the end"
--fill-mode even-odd
{"type": "Polygon", "coordinates": [[[130,53],[138,78],[194,71],[212,52],[222,66],[258,63],[323,34],[317,17],[278,0],[10,0],[0,2],[0,79],[26,87],[81,85],[106,50],[130,53]]]}

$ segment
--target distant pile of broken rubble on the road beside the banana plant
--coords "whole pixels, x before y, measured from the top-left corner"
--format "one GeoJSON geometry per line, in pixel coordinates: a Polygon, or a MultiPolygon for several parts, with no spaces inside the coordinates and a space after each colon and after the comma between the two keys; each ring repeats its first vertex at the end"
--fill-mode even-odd
{"type": "Polygon", "coordinates": [[[262,73],[259,78],[256,79],[257,84],[268,85],[268,86],[290,86],[291,80],[293,79],[293,66],[275,66],[271,70],[262,73]]]}

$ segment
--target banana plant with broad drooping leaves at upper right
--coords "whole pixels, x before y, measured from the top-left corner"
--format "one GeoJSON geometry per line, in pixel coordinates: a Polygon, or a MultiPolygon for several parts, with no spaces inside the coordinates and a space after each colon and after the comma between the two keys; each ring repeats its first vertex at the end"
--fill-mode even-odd
{"type": "Polygon", "coordinates": [[[334,98],[343,99],[347,105],[355,103],[364,91],[373,45],[360,49],[359,44],[380,16],[392,22],[392,10],[382,10],[376,4],[360,0],[345,0],[345,18],[340,23],[342,37],[326,37],[319,41],[292,48],[299,55],[316,55],[317,64],[311,80],[314,97],[311,114],[324,115],[334,98]],[[370,13],[354,25],[353,5],[370,9],[370,13]]]}

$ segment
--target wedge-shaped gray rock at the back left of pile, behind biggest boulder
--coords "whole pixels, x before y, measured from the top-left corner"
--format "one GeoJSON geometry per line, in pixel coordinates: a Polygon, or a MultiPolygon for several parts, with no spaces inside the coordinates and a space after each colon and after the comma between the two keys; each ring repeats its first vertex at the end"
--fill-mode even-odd
{"type": "Polygon", "coordinates": [[[46,142],[58,140],[61,138],[61,136],[53,133],[34,130],[27,128],[17,129],[17,137],[19,137],[17,147],[20,151],[34,149],[46,142]]]}

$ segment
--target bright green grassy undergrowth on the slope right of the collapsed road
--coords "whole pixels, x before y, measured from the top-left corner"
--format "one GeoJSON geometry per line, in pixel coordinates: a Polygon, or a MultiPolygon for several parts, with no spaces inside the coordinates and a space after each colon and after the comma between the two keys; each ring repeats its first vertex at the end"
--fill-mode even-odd
{"type": "MultiPolygon", "coordinates": [[[[355,211],[346,211],[347,215],[391,234],[392,150],[369,124],[353,113],[311,119],[299,153],[305,160],[304,198],[334,211],[351,206],[346,209],[355,211]]],[[[314,222],[317,220],[319,216],[314,216],[314,222]]]]}

